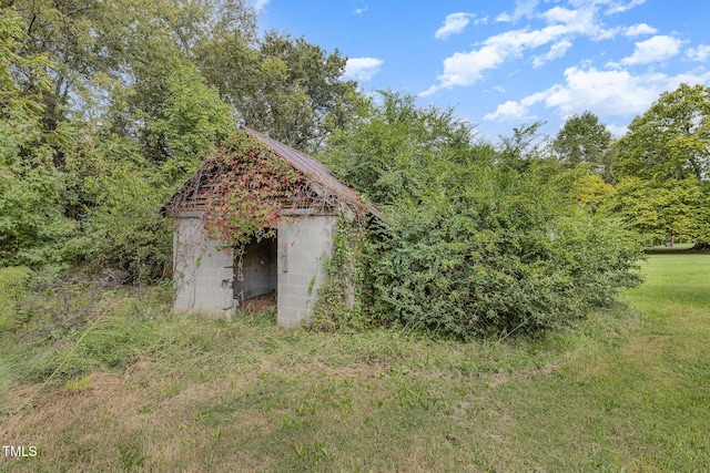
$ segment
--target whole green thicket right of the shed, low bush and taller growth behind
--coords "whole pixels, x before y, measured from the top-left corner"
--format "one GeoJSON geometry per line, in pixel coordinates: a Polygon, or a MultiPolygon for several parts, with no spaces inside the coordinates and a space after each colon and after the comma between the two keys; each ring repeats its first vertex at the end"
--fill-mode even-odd
{"type": "Polygon", "coordinates": [[[462,339],[534,331],[639,282],[638,245],[567,195],[536,125],[493,150],[410,97],[371,106],[331,160],[390,218],[369,268],[374,320],[462,339]]]}

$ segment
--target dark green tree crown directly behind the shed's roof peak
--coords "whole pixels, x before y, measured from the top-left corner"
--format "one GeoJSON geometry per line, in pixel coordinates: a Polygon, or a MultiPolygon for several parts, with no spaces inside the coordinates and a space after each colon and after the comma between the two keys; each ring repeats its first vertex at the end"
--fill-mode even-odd
{"type": "Polygon", "coordinates": [[[233,32],[196,54],[246,125],[303,151],[317,151],[359,100],[356,83],[341,80],[346,59],[303,38],[271,31],[255,41],[233,32]]]}

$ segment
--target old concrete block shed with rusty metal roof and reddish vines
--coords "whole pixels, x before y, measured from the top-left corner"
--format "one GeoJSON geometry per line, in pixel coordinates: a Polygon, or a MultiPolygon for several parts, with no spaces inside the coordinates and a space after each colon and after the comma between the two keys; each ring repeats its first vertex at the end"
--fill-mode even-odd
{"type": "MultiPolygon", "coordinates": [[[[268,237],[239,245],[215,236],[211,226],[220,212],[239,213],[255,205],[252,192],[258,192],[260,184],[244,175],[253,171],[245,173],[230,164],[219,150],[175,192],[161,209],[174,219],[174,311],[233,317],[245,301],[271,296],[276,301],[278,325],[295,326],[313,312],[338,220],[344,216],[381,217],[315,158],[245,126],[236,134],[265,145],[260,147],[260,160],[267,160],[264,163],[285,164],[283,174],[292,176],[290,185],[270,196],[276,214],[268,237]],[[241,197],[225,198],[224,183],[237,186],[241,197]]],[[[251,160],[246,154],[237,158],[251,160]]],[[[288,181],[282,177],[270,175],[276,179],[273,182],[288,181]]]]}

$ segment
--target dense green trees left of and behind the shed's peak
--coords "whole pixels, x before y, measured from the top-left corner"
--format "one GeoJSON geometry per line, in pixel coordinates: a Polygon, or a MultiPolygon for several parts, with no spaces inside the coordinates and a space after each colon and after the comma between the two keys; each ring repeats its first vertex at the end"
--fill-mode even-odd
{"type": "Polygon", "coordinates": [[[243,0],[3,6],[0,265],[169,275],[161,204],[239,122],[317,147],[358,101],[344,66],[243,0]]]}

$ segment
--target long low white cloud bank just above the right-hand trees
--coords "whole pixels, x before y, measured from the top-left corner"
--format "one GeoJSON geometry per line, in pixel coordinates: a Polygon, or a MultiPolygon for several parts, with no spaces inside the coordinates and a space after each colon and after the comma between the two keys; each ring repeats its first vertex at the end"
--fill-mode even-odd
{"type": "MultiPolygon", "coordinates": [[[[484,116],[491,121],[520,121],[529,119],[530,107],[542,104],[560,117],[591,110],[598,116],[632,117],[646,112],[662,92],[672,91],[681,83],[710,83],[710,72],[666,75],[646,73],[633,75],[629,71],[599,71],[595,68],[568,68],[565,84],[556,84],[515,102],[508,101],[495,113],[484,116]]],[[[621,127],[609,127],[622,135],[621,127]]]]}

